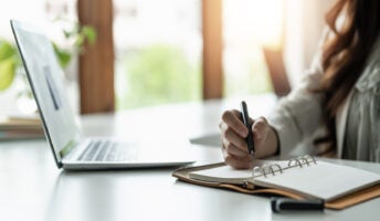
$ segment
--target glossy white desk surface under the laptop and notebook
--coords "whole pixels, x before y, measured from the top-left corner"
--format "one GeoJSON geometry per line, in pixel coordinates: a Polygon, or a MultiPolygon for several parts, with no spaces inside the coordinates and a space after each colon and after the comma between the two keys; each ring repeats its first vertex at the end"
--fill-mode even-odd
{"type": "MultiPolygon", "coordinates": [[[[273,101],[268,97],[266,101],[273,101]]],[[[261,99],[249,99],[254,116],[261,99]],[[257,107],[256,109],[254,107],[257,107]]],[[[82,117],[86,135],[191,138],[219,131],[221,113],[239,102],[211,101],[82,117]]],[[[220,148],[192,146],[204,162],[222,160],[220,148]]],[[[380,165],[337,160],[380,173],[380,165]]],[[[175,168],[68,172],[55,167],[44,140],[0,143],[0,220],[376,220],[380,198],[342,211],[272,213],[270,199],[184,183],[175,168]]]]}

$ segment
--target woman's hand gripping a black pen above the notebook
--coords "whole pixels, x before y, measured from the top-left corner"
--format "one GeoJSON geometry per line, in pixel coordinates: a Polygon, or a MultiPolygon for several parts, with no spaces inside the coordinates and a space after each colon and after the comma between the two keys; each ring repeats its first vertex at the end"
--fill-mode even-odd
{"type": "Polygon", "coordinates": [[[247,151],[245,137],[249,129],[241,120],[241,113],[236,109],[226,110],[222,115],[219,127],[222,130],[222,152],[225,164],[236,169],[253,167],[255,158],[267,157],[277,151],[277,136],[264,117],[252,123],[253,139],[255,144],[255,156],[247,151]]]}

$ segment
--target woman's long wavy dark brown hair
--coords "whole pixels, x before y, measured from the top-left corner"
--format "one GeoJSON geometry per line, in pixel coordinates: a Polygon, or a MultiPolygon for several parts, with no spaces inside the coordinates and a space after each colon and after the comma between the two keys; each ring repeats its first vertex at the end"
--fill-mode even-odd
{"type": "Polygon", "coordinates": [[[337,0],[326,13],[326,23],[334,38],[323,46],[324,77],[321,92],[325,94],[324,117],[326,120],[329,148],[336,150],[336,115],[355,83],[360,77],[366,61],[379,38],[379,0],[337,0]],[[342,27],[337,21],[342,15],[342,27]]]}

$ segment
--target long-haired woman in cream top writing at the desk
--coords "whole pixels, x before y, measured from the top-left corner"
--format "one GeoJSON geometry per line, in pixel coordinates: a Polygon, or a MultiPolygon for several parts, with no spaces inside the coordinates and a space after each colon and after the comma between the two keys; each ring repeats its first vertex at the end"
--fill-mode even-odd
{"type": "Polygon", "coordinates": [[[223,113],[228,165],[252,168],[254,158],[288,154],[323,126],[316,155],[380,162],[380,1],[338,0],[302,85],[265,119],[252,120],[256,156],[247,154],[240,112],[223,113]],[[323,145],[321,145],[323,144],[323,145]]]}

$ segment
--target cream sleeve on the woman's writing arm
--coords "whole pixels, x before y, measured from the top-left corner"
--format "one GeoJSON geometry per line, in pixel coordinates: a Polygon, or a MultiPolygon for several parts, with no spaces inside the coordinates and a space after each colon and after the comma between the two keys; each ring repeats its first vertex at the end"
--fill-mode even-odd
{"type": "Polygon", "coordinates": [[[323,124],[323,95],[313,92],[320,87],[321,51],[314,56],[299,86],[279,99],[268,123],[277,130],[281,154],[289,154],[305,138],[312,137],[323,124]]]}

